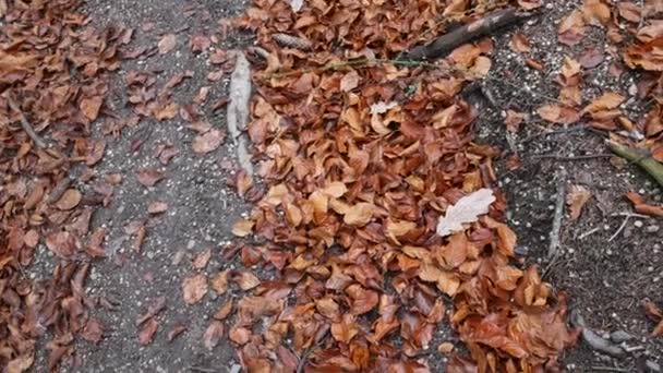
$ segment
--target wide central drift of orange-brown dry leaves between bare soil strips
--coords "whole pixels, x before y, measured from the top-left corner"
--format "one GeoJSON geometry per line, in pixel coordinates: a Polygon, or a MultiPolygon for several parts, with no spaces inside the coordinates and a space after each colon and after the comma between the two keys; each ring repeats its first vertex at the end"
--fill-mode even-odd
{"type": "MultiPolygon", "coordinates": [[[[564,297],[537,268],[514,265],[497,190],[487,215],[460,213],[465,221],[437,233],[442,216],[454,220],[463,200],[485,202],[495,186],[497,151],[472,141],[477,112],[459,95],[487,73],[493,46],[468,44],[436,63],[393,59],[435,35],[443,15],[478,5],[256,0],[248,10],[242,25],[265,59],[248,133],[266,192],[233,231],[265,239],[241,258],[278,276],[212,280],[218,292],[230,282],[252,291],[215,315],[237,310],[229,338],[248,371],[423,372],[423,352],[453,349],[431,346],[441,323],[469,352],[453,353],[450,372],[554,369],[574,342],[564,297]]],[[[238,189],[256,186],[240,176],[238,189]]]]}

